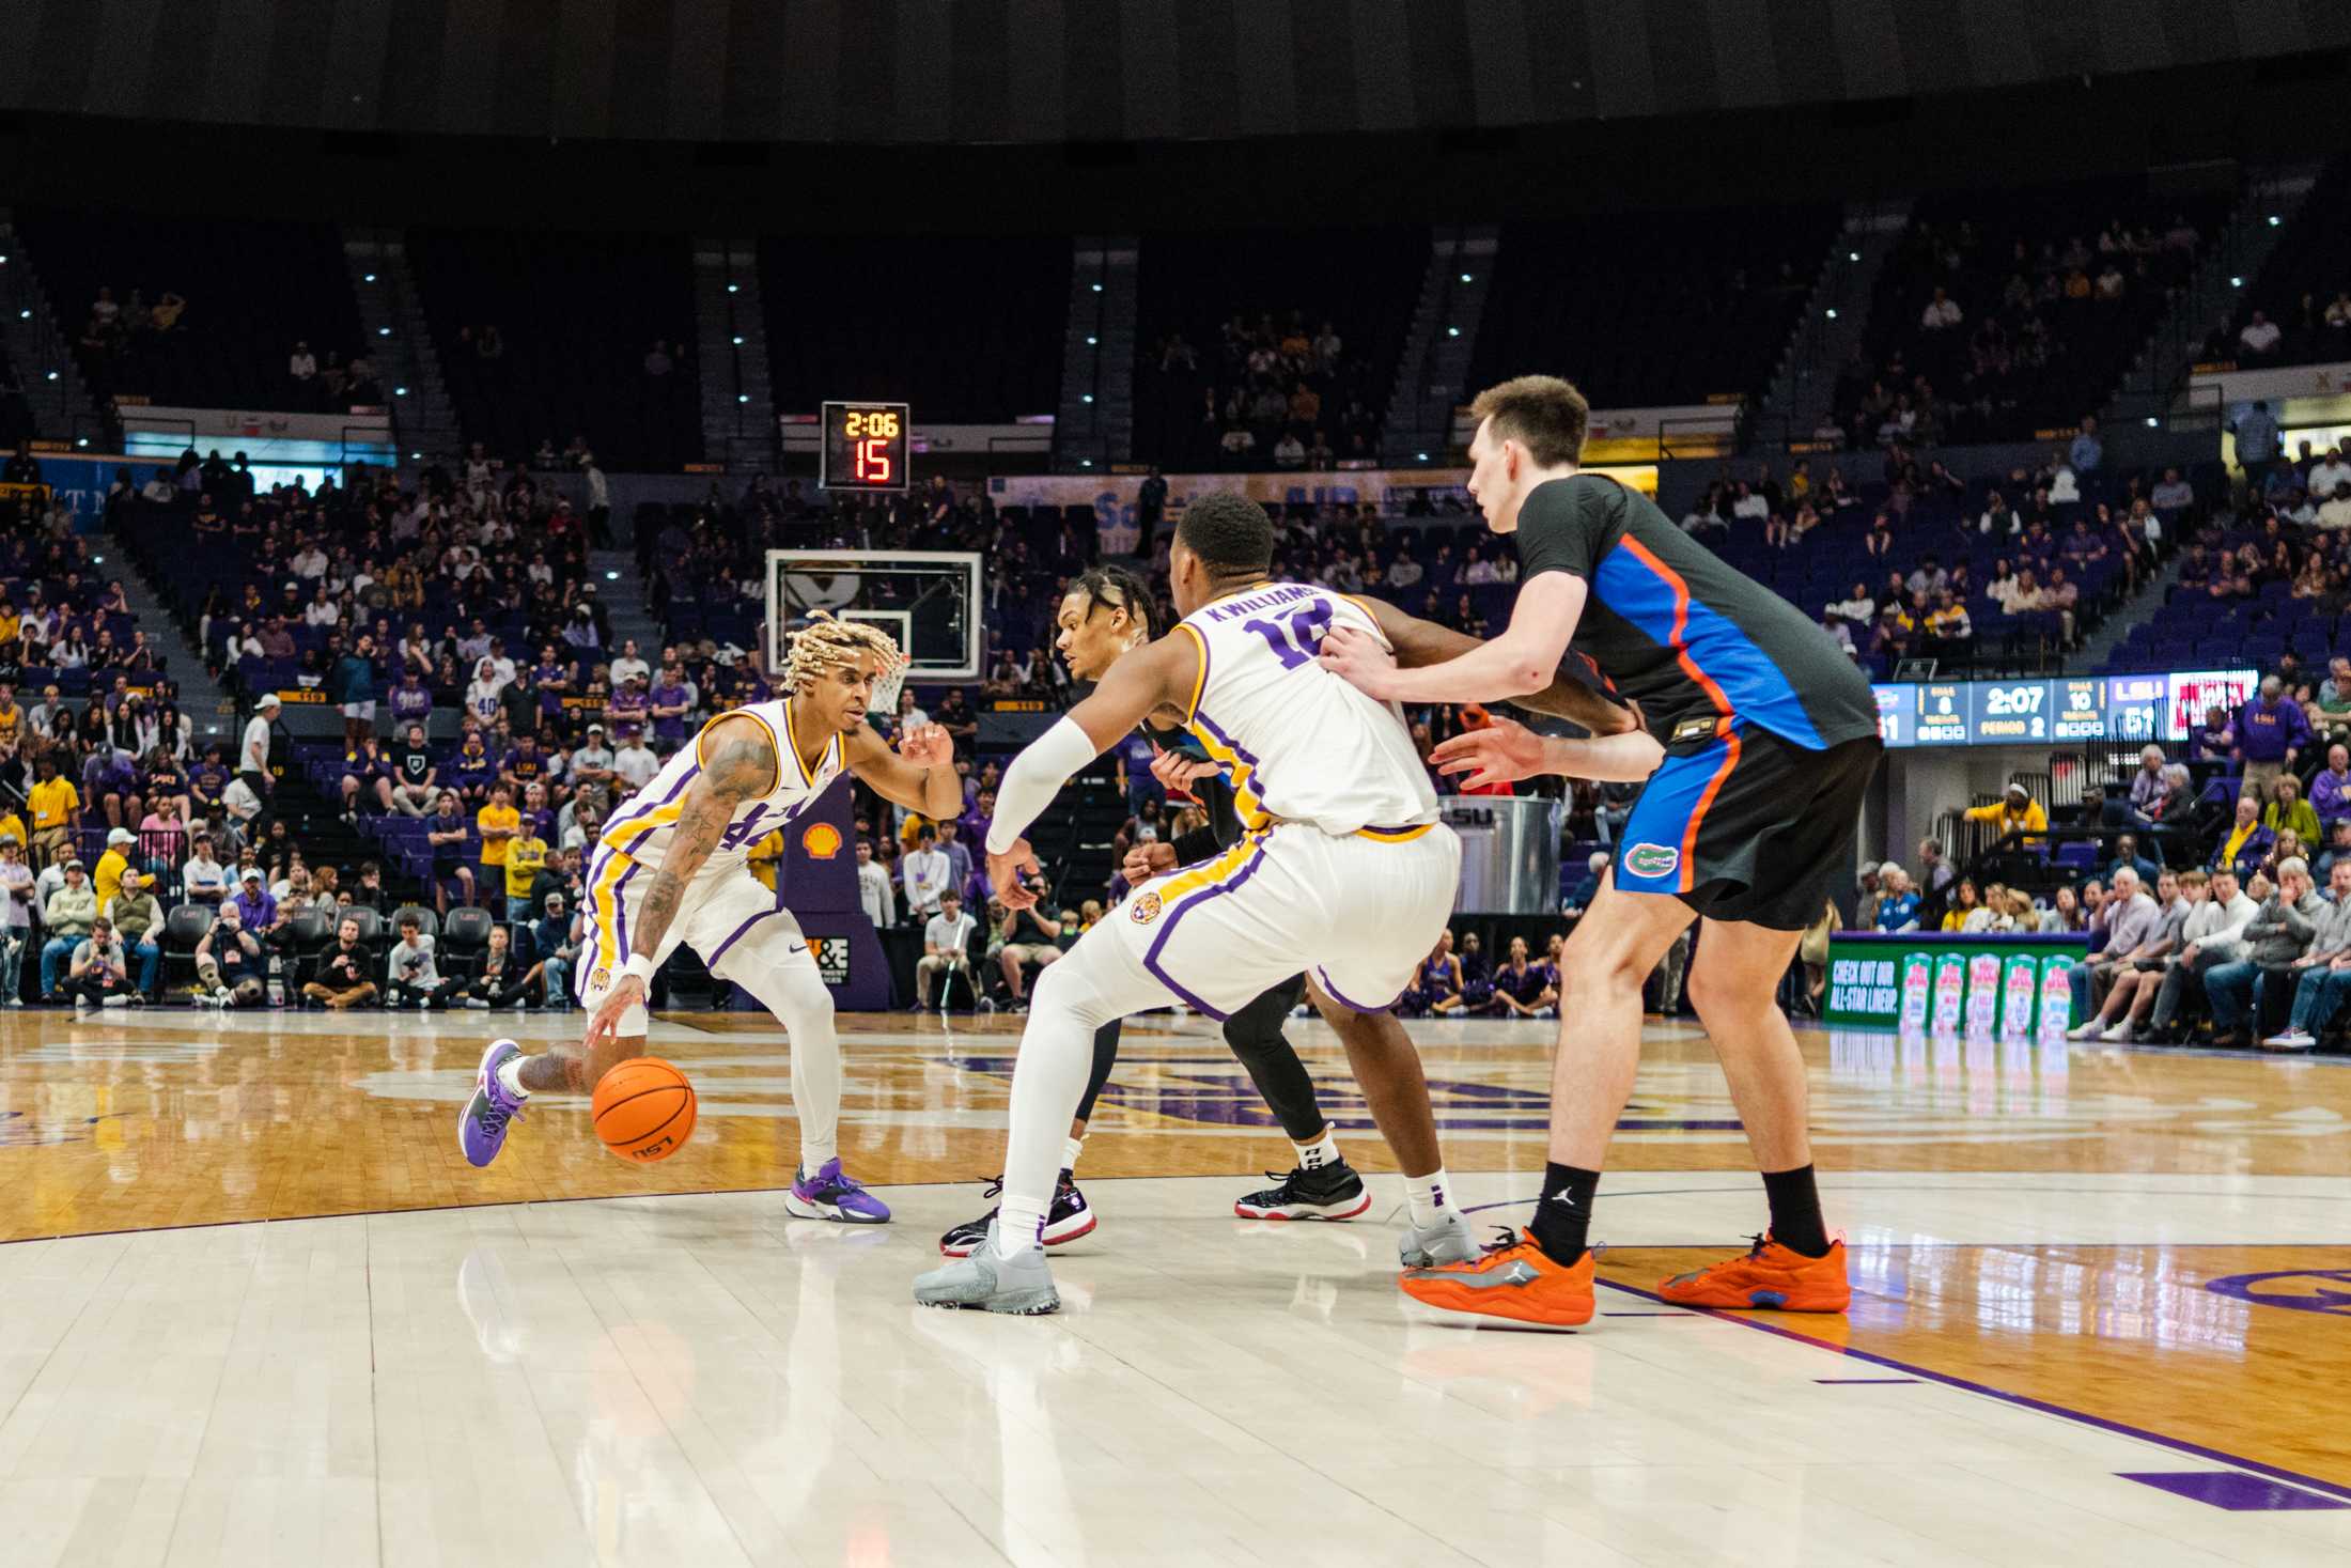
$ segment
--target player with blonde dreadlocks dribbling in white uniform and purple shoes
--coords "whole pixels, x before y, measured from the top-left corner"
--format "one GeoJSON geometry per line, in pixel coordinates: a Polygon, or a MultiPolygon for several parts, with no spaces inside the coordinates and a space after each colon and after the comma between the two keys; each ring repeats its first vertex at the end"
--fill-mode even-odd
{"type": "Polygon", "coordinates": [[[647,987],[677,947],[757,997],[792,1048],[799,1171],[785,1208],[804,1220],[879,1225],[889,1208],[842,1173],[842,1046],[832,992],[799,922],[750,875],[750,849],[806,813],[842,773],[924,816],[955,816],[964,788],[938,724],[915,724],[891,750],[865,715],[896,701],[905,654],[886,632],[818,611],[790,637],[790,696],[710,719],[651,783],[604,823],[588,863],[576,992],[590,1009],[581,1051],[524,1056],[510,1039],[482,1053],[458,1147],[487,1166],[536,1091],[588,1093],[621,1060],[644,1056],[647,987]]]}

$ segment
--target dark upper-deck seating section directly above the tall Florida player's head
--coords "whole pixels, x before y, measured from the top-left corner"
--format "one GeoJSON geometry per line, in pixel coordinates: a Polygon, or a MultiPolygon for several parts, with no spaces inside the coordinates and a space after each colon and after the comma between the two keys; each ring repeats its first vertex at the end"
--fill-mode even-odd
{"type": "Polygon", "coordinates": [[[1509,223],[1469,381],[1556,371],[1601,409],[1759,393],[1834,235],[1834,207],[1509,223]]]}

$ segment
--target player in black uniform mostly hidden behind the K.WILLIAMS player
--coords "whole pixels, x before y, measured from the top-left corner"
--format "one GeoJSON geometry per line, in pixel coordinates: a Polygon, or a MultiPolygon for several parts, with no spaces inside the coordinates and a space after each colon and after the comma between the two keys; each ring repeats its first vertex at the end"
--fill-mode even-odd
{"type": "MultiPolygon", "coordinates": [[[[1399,658],[1406,663],[1453,658],[1476,646],[1474,637],[1429,621],[1415,621],[1404,611],[1382,611],[1382,621],[1394,632],[1399,658]]],[[[1124,654],[1145,646],[1159,630],[1150,588],[1124,567],[1100,567],[1079,576],[1070,585],[1070,592],[1063,595],[1056,625],[1056,649],[1070,665],[1070,675],[1089,684],[1100,682],[1124,654]]],[[[1554,682],[1552,689],[1526,698],[1526,705],[1578,717],[1603,729],[1629,724],[1629,715],[1622,708],[1589,693],[1578,682],[1554,682]]],[[[1143,733],[1154,745],[1176,745],[1178,731],[1161,729],[1159,722],[1173,726],[1180,719],[1180,712],[1161,710],[1152,722],[1145,722],[1143,733]]],[[[1239,820],[1234,788],[1213,762],[1194,762],[1180,752],[1159,750],[1152,759],[1152,773],[1161,785],[1190,790],[1206,809],[1211,825],[1194,827],[1176,839],[1154,839],[1131,849],[1124,875],[1133,884],[1171,872],[1178,865],[1208,860],[1218,851],[1232,849],[1246,827],[1239,820]]],[[[1112,910],[1110,919],[1119,914],[1121,910],[1112,910]]],[[[1281,1032],[1291,1009],[1305,994],[1307,978],[1305,973],[1295,973],[1270,985],[1225,1018],[1225,1044],[1232,1046],[1232,1053],[1248,1070],[1251,1081],[1265,1095],[1267,1110],[1274,1112],[1298,1157],[1298,1164],[1279,1182],[1234,1199],[1232,1211],[1244,1220],[1352,1220],[1371,1208],[1371,1190],[1340,1154],[1338,1133],[1314,1095],[1314,1079],[1307,1074],[1305,1063],[1298,1060],[1295,1046],[1281,1032]]],[[[1352,1048],[1366,1053],[1366,1058],[1375,1060],[1380,1051],[1389,1048],[1392,1041],[1382,1030],[1359,1023],[1364,1013],[1338,1006],[1319,994],[1317,1006],[1340,1030],[1342,1039],[1349,1034],[1357,1037],[1352,1048]]],[[[1086,1079],[1086,1093],[1077,1103],[1077,1117],[1063,1143],[1060,1180],[1053,1185],[1053,1204],[1039,1232],[1049,1251],[1096,1229],[1096,1213],[1077,1187],[1074,1168],[1086,1143],[1086,1124],[1093,1119],[1093,1105],[1119,1060],[1119,1027],[1121,1020],[1112,1018],[1093,1034],[1093,1072],[1086,1079]]],[[[940,1237],[938,1251],[950,1258],[969,1255],[987,1239],[987,1227],[994,1218],[997,1211],[990,1208],[976,1220],[957,1225],[940,1237]]],[[[1408,1253],[1408,1260],[1425,1255],[1425,1248],[1420,1248],[1408,1253]]]]}

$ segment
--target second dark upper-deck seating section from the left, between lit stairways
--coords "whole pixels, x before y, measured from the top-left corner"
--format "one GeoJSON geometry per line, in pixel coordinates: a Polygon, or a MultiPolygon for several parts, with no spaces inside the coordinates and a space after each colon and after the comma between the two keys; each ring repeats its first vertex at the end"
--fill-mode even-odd
{"type": "Polygon", "coordinates": [[[418,228],[409,263],[465,440],[513,456],[585,435],[607,470],[701,461],[682,235],[418,228]],[[672,355],[663,376],[647,371],[654,343],[672,355]]]}

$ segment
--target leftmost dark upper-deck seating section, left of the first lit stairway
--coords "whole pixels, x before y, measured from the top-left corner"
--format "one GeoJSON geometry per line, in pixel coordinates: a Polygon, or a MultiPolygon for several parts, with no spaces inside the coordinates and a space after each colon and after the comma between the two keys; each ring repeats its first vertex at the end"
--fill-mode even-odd
{"type": "Polygon", "coordinates": [[[324,223],[214,223],[134,214],[19,209],[16,228],[40,270],[59,329],[92,393],[143,395],[190,409],[306,411],[376,402],[379,390],[331,397],[296,386],[287,360],[308,343],[322,371],[367,348],[350,296],[343,244],[324,223]],[[99,289],[122,308],[120,331],[89,339],[99,289]],[[169,329],[134,329],[136,306],[176,294],[186,310],[169,329]]]}

